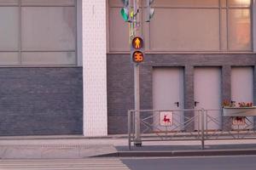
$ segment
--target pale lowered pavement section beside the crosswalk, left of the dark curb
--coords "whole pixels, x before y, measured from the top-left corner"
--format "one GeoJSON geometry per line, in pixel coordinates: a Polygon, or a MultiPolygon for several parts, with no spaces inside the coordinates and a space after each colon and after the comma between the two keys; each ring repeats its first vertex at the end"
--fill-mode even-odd
{"type": "Polygon", "coordinates": [[[1,159],[77,159],[116,152],[117,150],[112,144],[19,144],[0,146],[1,159]]]}

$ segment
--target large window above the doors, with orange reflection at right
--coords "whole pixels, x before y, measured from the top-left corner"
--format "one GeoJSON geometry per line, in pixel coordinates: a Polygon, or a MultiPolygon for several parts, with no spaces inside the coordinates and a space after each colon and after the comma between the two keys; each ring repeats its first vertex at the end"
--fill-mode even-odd
{"type": "MultiPolygon", "coordinates": [[[[129,51],[122,4],[109,2],[109,51],[129,51]]],[[[156,0],[153,8],[154,18],[143,22],[148,51],[252,51],[251,0],[156,0]]]]}

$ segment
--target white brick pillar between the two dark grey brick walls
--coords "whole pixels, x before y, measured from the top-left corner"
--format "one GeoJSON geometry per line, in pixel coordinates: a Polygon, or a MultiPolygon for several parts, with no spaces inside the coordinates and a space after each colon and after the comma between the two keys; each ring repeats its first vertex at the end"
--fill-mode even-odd
{"type": "Polygon", "coordinates": [[[106,0],[83,0],[84,136],[108,135],[106,0]]]}

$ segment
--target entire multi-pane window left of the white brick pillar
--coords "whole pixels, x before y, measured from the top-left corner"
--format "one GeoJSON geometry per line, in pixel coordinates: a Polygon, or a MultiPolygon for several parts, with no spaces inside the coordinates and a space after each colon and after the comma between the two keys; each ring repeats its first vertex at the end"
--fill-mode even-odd
{"type": "Polygon", "coordinates": [[[76,65],[75,0],[0,0],[0,65],[76,65]]]}

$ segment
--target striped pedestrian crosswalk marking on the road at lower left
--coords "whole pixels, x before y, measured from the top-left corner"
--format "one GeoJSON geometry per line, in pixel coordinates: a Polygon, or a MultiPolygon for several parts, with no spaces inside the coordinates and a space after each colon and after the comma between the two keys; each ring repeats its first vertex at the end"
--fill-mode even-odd
{"type": "Polygon", "coordinates": [[[128,170],[117,158],[0,160],[0,170],[128,170]]]}

